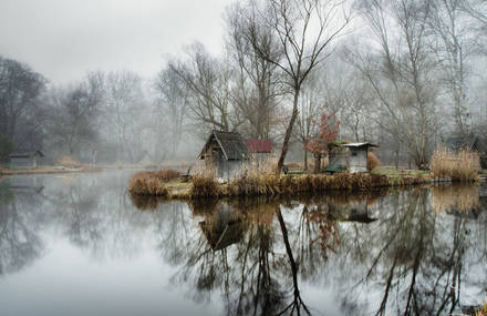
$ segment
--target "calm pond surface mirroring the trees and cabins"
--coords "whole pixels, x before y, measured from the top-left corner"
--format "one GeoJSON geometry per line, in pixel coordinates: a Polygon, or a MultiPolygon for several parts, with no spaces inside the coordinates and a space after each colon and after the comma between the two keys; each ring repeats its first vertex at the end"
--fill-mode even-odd
{"type": "Polygon", "coordinates": [[[487,188],[198,203],[133,172],[0,180],[0,315],[448,315],[485,299],[487,188]]]}

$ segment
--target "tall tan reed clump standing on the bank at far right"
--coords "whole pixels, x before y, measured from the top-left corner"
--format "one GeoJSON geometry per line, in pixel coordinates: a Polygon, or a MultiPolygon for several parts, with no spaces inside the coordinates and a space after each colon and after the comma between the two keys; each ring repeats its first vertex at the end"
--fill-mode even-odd
{"type": "Polygon", "coordinates": [[[474,182],[478,180],[479,155],[468,150],[453,153],[447,149],[436,149],[431,167],[436,181],[445,179],[454,182],[474,182]]]}

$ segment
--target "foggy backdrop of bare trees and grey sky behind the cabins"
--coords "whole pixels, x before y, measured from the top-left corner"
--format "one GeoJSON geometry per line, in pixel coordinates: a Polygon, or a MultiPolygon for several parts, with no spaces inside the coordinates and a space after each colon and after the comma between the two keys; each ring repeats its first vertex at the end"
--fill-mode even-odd
{"type": "Polygon", "coordinates": [[[0,160],[190,163],[222,130],[289,163],[324,113],[422,167],[486,134],[486,31],[481,0],[2,1],[0,160]]]}

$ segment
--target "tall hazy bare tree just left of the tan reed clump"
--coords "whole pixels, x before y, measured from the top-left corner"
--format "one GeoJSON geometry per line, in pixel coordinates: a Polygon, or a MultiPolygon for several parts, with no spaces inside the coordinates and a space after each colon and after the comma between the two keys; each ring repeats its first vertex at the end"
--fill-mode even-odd
{"type": "Polygon", "coordinates": [[[426,167],[436,131],[436,64],[427,43],[429,1],[370,0],[362,13],[372,29],[375,55],[351,57],[418,167],[426,167]],[[391,31],[392,30],[392,31],[391,31]]]}

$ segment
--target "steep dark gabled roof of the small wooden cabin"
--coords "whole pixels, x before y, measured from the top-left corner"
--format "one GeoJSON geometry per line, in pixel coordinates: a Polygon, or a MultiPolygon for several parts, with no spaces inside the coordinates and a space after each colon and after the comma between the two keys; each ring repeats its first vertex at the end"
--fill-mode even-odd
{"type": "Polygon", "coordinates": [[[222,131],[211,131],[211,134],[208,137],[205,146],[199,154],[199,157],[203,159],[205,151],[209,146],[213,140],[216,140],[221,151],[224,152],[226,160],[242,160],[248,159],[249,151],[247,149],[246,143],[239,133],[232,132],[222,132],[222,131]]]}

